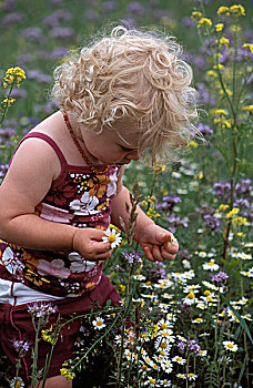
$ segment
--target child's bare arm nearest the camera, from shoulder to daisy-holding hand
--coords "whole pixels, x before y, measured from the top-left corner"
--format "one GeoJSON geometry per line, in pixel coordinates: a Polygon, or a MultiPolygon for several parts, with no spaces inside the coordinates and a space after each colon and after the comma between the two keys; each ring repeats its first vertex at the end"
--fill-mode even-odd
{"type": "Polygon", "coordinates": [[[29,139],[16,153],[0,186],[0,238],[31,249],[73,249],[89,259],[107,259],[112,251],[102,231],[77,228],[34,214],[61,166],[43,141],[29,139]]]}

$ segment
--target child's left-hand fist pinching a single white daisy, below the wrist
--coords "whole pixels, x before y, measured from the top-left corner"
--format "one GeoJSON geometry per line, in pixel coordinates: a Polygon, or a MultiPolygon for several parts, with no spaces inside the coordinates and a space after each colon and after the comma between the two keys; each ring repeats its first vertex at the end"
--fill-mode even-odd
{"type": "Polygon", "coordinates": [[[107,261],[113,249],[110,243],[104,243],[104,232],[100,229],[77,228],[73,235],[73,249],[89,261],[107,261]]]}

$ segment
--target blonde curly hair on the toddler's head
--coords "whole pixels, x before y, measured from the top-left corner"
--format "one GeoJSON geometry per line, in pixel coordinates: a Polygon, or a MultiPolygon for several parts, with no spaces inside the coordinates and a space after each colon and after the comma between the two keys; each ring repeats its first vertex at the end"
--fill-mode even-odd
{"type": "Polygon", "coordinates": [[[117,27],[55,69],[52,96],[91,130],[138,131],[140,153],[173,161],[196,133],[192,69],[182,54],[172,37],[117,27]]]}

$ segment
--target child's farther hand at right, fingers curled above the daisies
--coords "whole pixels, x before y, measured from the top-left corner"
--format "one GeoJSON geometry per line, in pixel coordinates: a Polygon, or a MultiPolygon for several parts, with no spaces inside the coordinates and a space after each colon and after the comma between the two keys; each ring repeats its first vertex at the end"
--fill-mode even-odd
{"type": "Polygon", "coordinates": [[[139,243],[150,262],[173,261],[179,251],[179,244],[173,234],[155,224],[142,231],[139,243]]]}

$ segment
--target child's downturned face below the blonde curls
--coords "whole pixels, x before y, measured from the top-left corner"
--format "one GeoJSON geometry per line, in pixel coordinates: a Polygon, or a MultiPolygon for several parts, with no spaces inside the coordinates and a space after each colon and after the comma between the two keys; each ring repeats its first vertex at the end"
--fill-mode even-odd
{"type": "Polygon", "coordinates": [[[122,131],[119,135],[115,130],[104,127],[100,134],[81,129],[81,134],[88,152],[100,162],[128,164],[140,159],[135,133],[122,131]]]}

